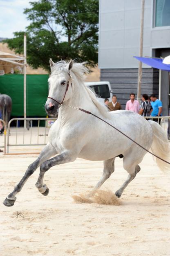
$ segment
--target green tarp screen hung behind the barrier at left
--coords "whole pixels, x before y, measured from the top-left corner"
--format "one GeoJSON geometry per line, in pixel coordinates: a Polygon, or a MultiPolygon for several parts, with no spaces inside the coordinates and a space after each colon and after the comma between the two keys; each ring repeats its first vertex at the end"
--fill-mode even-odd
{"type": "MultiPolygon", "coordinates": [[[[27,75],[27,116],[46,116],[48,75],[27,75]]],[[[24,75],[0,76],[0,93],[12,98],[11,116],[24,115],[24,75]]]]}

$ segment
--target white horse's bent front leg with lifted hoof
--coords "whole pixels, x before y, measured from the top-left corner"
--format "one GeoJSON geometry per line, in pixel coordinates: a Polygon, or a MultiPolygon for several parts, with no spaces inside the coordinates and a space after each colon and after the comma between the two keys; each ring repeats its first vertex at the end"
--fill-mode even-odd
{"type": "Polygon", "coordinates": [[[40,191],[42,195],[48,195],[49,189],[47,188],[46,184],[43,183],[44,180],[44,174],[49,170],[54,165],[59,165],[62,163],[68,163],[68,162],[73,162],[76,160],[75,154],[73,155],[72,152],[69,150],[66,150],[59,154],[58,156],[55,156],[44,163],[40,165],[40,174],[36,183],[36,187],[40,191]]]}

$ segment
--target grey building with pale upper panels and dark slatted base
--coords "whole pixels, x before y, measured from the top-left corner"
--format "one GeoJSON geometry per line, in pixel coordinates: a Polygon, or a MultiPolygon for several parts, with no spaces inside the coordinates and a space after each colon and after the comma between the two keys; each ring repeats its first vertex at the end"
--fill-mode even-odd
{"type": "MultiPolygon", "coordinates": [[[[98,66],[101,81],[110,81],[125,107],[131,92],[137,93],[141,0],[99,0],[98,66]]],[[[143,57],[170,55],[170,0],[145,0],[143,57]]],[[[169,109],[169,77],[162,71],[163,115],[169,109]]],[[[141,93],[159,93],[159,70],[143,64],[141,93]]]]}

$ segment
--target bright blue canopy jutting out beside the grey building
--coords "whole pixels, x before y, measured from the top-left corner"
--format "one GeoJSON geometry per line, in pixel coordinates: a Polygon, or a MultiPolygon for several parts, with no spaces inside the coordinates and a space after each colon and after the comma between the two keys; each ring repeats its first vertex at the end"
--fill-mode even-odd
{"type": "Polygon", "coordinates": [[[137,57],[137,56],[134,56],[134,58],[147,64],[148,66],[151,66],[152,68],[158,68],[158,69],[166,70],[170,72],[170,65],[162,63],[163,59],[145,58],[145,57],[137,57]]]}

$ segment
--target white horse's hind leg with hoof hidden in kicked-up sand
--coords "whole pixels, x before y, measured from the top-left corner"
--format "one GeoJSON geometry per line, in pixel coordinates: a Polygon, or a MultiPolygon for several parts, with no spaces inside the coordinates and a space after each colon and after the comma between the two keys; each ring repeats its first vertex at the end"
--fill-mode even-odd
{"type": "Polygon", "coordinates": [[[98,181],[92,192],[88,194],[89,197],[92,197],[95,195],[96,191],[103,185],[103,183],[109,179],[110,175],[114,172],[114,160],[115,157],[112,159],[108,159],[103,161],[104,168],[103,168],[103,175],[101,179],[98,181]]]}

